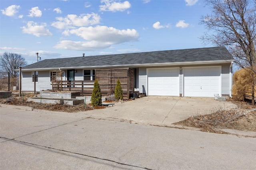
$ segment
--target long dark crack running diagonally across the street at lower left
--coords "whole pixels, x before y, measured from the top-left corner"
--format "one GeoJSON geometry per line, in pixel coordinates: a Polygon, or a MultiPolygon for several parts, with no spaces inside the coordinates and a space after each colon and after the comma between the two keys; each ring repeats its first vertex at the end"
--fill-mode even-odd
{"type": "MultiPolygon", "coordinates": [[[[66,123],[66,124],[67,124],[67,123],[66,123]]],[[[5,137],[1,137],[1,138],[5,138],[5,137]]],[[[5,138],[5,139],[8,139],[8,138],[5,138]]],[[[116,163],[116,164],[131,166],[131,167],[135,167],[135,168],[142,168],[142,169],[146,169],[146,170],[153,170],[153,169],[150,169],[150,168],[141,167],[141,166],[136,166],[136,165],[131,165],[131,164],[126,164],[126,163],[122,163],[122,162],[117,162],[117,161],[110,160],[110,159],[106,159],[106,158],[99,158],[99,157],[96,157],[96,156],[90,156],[90,155],[87,155],[87,154],[81,154],[81,153],[77,153],[77,152],[71,152],[71,151],[68,151],[68,150],[56,149],[56,148],[52,148],[52,147],[46,147],[46,146],[42,146],[42,145],[37,145],[37,144],[34,144],[34,143],[28,143],[28,142],[24,142],[24,141],[18,141],[18,140],[16,140],[16,139],[8,139],[8,141],[16,141],[16,142],[25,143],[25,144],[28,144],[28,145],[34,145],[34,146],[37,146],[37,147],[43,147],[43,148],[47,148],[47,149],[58,150],[58,151],[61,151],[61,152],[67,152],[67,153],[72,153],[72,154],[78,154],[78,155],[87,156],[87,157],[90,157],[90,158],[95,158],[95,159],[99,159],[99,160],[106,160],[106,161],[109,161],[109,162],[114,162],[114,163],[116,163]]]]}

